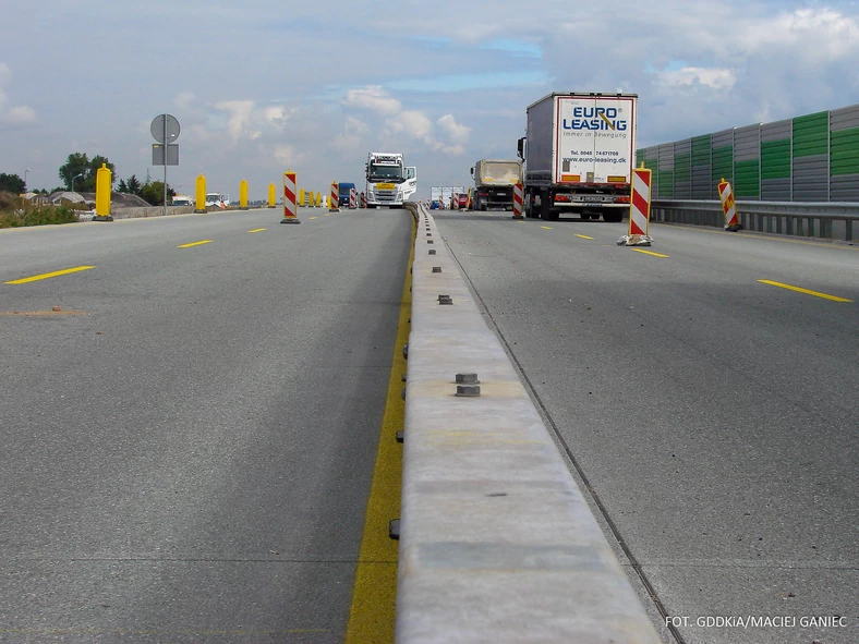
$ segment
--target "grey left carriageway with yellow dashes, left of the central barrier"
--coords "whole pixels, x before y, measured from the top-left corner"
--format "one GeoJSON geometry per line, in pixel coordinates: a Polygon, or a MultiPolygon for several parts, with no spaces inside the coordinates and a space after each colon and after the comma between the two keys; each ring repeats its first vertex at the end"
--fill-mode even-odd
{"type": "Polygon", "coordinates": [[[280,218],[0,231],[0,641],[343,641],[412,217],[280,218]]]}

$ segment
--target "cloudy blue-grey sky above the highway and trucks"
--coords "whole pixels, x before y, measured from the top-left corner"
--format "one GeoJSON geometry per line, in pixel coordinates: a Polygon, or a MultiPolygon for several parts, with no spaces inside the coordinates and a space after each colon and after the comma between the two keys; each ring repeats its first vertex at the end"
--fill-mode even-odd
{"type": "Polygon", "coordinates": [[[856,0],[2,0],[0,172],[60,184],[70,153],[264,198],[360,183],[371,150],[418,166],[419,196],[515,158],[551,92],[630,92],[638,147],[859,104],[856,0]]]}

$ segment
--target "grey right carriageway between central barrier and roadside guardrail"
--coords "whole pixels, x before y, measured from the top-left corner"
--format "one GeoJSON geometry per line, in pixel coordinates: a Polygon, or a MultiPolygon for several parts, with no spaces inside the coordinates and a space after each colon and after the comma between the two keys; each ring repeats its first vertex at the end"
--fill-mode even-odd
{"type": "Polygon", "coordinates": [[[433,215],[665,642],[859,642],[859,247],[433,215]]]}

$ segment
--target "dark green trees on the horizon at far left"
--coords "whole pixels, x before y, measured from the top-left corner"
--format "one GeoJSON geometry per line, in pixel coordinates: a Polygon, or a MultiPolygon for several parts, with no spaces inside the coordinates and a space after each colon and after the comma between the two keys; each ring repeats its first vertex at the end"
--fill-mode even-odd
{"type": "MultiPolygon", "coordinates": [[[[90,159],[86,153],[72,153],[58,171],[62,185],[55,187],[51,192],[95,192],[96,178],[102,165],[110,170],[112,190],[113,184],[117,182],[117,168],[107,157],[95,155],[90,159]]],[[[25,181],[19,174],[0,172],[0,192],[22,194],[26,189],[25,181]]],[[[34,192],[49,194],[45,189],[34,192]]],[[[145,181],[142,183],[140,179],[132,174],[128,179],[120,179],[117,192],[137,195],[153,206],[164,205],[162,181],[145,181]]],[[[176,195],[176,191],[170,187],[169,183],[167,184],[167,194],[170,198],[176,195]]]]}

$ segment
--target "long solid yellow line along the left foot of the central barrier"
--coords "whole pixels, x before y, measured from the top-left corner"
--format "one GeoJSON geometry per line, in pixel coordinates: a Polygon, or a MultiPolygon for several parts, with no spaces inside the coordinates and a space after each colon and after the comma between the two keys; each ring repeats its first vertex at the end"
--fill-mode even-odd
{"type": "MultiPolygon", "coordinates": [[[[412,252],[418,227],[412,219],[412,252]]],[[[382,435],[376,452],[373,484],[364,519],[364,534],[358,557],[352,607],[346,630],[346,644],[392,644],[397,606],[397,554],[399,542],[388,537],[388,522],[400,515],[402,487],[402,446],[395,434],[403,426],[406,403],[402,400],[400,375],[406,373],[402,345],[409,341],[409,318],[412,309],[412,278],[408,270],[402,284],[400,320],[394,345],[394,364],[388,380],[388,399],[382,418],[382,435]]],[[[408,440],[408,438],[406,439],[408,440]]]]}

